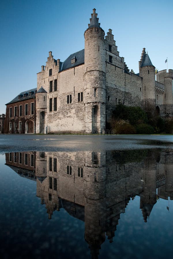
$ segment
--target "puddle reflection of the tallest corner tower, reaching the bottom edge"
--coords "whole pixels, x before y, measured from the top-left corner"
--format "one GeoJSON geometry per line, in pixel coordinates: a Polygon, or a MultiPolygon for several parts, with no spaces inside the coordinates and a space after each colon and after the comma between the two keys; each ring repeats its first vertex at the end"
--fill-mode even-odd
{"type": "Polygon", "coordinates": [[[105,155],[88,152],[84,167],[85,240],[92,258],[97,258],[105,241],[106,166],[105,155]]]}

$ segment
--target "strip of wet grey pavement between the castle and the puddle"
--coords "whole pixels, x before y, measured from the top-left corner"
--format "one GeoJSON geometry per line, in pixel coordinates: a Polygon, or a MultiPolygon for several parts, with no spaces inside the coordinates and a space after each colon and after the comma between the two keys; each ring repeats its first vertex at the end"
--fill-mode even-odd
{"type": "Polygon", "coordinates": [[[173,149],[173,135],[0,134],[0,153],[19,151],[101,151],[173,149]]]}

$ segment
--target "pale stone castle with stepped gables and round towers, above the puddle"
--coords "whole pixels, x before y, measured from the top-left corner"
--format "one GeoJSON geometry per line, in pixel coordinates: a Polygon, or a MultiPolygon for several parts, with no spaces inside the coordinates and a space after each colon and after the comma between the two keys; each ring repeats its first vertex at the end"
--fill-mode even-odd
{"type": "Polygon", "coordinates": [[[103,133],[118,103],[173,117],[173,70],[159,71],[155,81],[155,66],[143,48],[139,73],[130,72],[112,30],[105,37],[95,11],[84,32],[84,49],[64,62],[50,51],[46,66],[37,73],[32,133],[103,133]]]}

